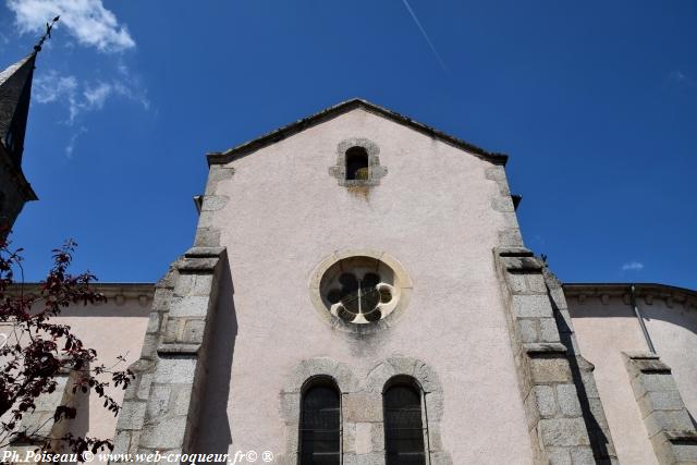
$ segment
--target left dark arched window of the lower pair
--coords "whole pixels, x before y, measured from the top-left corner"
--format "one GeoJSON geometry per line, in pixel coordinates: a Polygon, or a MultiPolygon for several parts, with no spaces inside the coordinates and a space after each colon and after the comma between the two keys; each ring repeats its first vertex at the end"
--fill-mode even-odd
{"type": "Polygon", "coordinates": [[[299,465],[341,463],[341,396],[328,377],[310,379],[301,399],[299,465]]]}

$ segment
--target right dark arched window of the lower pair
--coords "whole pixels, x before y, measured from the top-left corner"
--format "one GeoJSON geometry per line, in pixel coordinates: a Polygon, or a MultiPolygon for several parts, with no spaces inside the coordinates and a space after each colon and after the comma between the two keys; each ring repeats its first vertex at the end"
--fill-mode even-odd
{"type": "Polygon", "coordinates": [[[420,386],[411,377],[393,378],[382,394],[387,465],[426,465],[428,431],[420,386]]]}

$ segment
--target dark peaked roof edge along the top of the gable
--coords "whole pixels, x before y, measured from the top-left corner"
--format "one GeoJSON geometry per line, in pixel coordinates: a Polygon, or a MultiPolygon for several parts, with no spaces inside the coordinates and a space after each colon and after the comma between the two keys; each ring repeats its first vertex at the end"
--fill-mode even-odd
{"type": "Polygon", "coordinates": [[[236,160],[237,158],[249,155],[256,150],[259,150],[260,148],[283,140],[284,138],[305,131],[308,127],[323,123],[325,121],[331,120],[357,108],[360,108],[369,113],[378,114],[398,124],[411,127],[412,130],[426,134],[430,137],[436,137],[437,139],[444,142],[445,144],[466,150],[494,164],[504,166],[509,159],[508,155],[487,151],[465,140],[458,139],[457,137],[453,137],[433,127],[427,126],[426,124],[414,121],[411,118],[404,117],[386,108],[378,107],[377,105],[370,103],[367,100],[355,98],[327,108],[319,113],[313,114],[311,117],[307,117],[289,125],[279,127],[276,131],[262,135],[261,137],[249,140],[225,151],[207,154],[208,166],[229,163],[233,160],[236,160]]]}

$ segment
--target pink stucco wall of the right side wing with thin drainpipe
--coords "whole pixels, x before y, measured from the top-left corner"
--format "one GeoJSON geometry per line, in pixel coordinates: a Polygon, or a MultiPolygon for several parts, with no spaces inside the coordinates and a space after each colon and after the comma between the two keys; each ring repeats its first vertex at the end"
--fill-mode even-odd
{"type": "MultiPolygon", "coordinates": [[[[582,355],[594,371],[620,463],[656,464],[646,427],[635,400],[622,352],[648,351],[639,322],[628,304],[626,290],[603,287],[587,292],[568,307],[582,355]]],[[[574,291],[575,293],[578,291],[574,291]]],[[[665,295],[671,289],[663,287],[665,295]]],[[[637,291],[637,306],[661,360],[672,368],[683,402],[693,418],[697,412],[697,310],[665,298],[645,298],[637,291]]],[[[680,294],[680,293],[678,293],[680,294]]],[[[681,295],[684,298],[685,295],[681,295]]]]}

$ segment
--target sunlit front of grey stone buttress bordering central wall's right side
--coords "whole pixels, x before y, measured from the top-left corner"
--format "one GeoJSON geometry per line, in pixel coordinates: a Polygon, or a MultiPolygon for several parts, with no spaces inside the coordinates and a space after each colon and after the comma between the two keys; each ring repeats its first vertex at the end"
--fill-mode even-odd
{"type": "Polygon", "coordinates": [[[543,264],[524,247],[494,249],[518,387],[538,464],[595,464],[543,264]]]}

